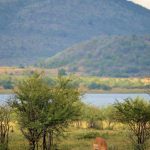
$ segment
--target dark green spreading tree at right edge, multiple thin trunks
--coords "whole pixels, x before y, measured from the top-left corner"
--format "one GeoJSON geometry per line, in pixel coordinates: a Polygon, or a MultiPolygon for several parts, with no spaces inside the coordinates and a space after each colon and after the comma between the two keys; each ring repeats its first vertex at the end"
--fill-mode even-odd
{"type": "Polygon", "coordinates": [[[116,119],[126,123],[133,133],[131,136],[135,150],[145,150],[150,138],[150,102],[142,98],[125,99],[115,103],[116,119]]]}

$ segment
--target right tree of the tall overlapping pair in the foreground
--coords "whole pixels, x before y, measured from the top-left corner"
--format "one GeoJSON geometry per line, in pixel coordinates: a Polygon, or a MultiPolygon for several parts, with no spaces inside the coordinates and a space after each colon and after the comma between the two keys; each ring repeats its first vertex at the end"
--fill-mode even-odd
{"type": "Polygon", "coordinates": [[[80,116],[80,92],[71,82],[70,78],[59,76],[56,85],[50,89],[51,104],[48,105],[49,115],[43,136],[45,149],[52,146],[54,134],[60,135],[71,121],[80,116]]]}

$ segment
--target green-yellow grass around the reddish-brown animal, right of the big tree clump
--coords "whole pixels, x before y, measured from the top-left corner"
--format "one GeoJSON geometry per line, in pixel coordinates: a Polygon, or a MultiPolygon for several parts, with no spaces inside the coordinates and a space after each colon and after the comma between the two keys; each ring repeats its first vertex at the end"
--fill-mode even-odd
{"type": "Polygon", "coordinates": [[[122,131],[94,129],[71,130],[70,135],[68,135],[66,139],[63,139],[63,144],[60,142],[59,147],[61,150],[91,150],[93,141],[97,136],[91,136],[91,138],[87,138],[87,136],[85,135],[89,135],[89,133],[95,134],[96,132],[99,134],[99,137],[103,137],[106,139],[109,149],[115,148],[114,150],[116,150],[118,148],[118,150],[132,150],[131,144],[128,142],[128,138],[124,133],[122,134],[122,131]],[[84,138],[81,138],[81,136],[84,138]]]}

